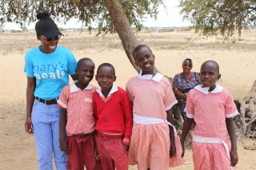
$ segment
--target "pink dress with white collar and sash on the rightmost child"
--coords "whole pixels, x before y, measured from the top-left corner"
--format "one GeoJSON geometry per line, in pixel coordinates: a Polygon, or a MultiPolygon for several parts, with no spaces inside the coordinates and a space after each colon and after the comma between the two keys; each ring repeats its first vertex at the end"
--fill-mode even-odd
{"type": "Polygon", "coordinates": [[[192,143],[194,170],[236,169],[230,167],[226,117],[236,116],[238,110],[227,89],[216,85],[213,91],[208,90],[198,85],[186,98],[186,116],[197,124],[192,143]]]}

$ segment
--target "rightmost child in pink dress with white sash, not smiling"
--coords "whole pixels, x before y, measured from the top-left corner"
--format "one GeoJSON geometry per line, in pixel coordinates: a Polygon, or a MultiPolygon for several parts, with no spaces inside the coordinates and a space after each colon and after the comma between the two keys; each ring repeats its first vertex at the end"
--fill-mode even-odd
{"type": "Polygon", "coordinates": [[[186,98],[186,121],[182,132],[182,156],[184,140],[193,120],[192,152],[195,170],[236,169],[238,152],[232,117],[238,114],[231,93],[216,85],[221,77],[215,61],[206,61],[200,69],[202,85],[190,90],[186,98]],[[231,147],[227,134],[230,136],[231,147]]]}

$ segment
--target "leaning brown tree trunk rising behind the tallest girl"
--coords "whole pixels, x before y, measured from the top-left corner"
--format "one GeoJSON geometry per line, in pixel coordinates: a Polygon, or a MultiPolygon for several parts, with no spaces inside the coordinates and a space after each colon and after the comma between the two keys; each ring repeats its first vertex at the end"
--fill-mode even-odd
{"type": "Polygon", "coordinates": [[[132,53],[134,48],[139,45],[139,43],[130,28],[130,23],[122,9],[122,5],[120,4],[119,0],[104,0],[104,2],[107,10],[110,13],[110,17],[112,18],[114,30],[118,33],[118,36],[122,41],[123,49],[125,50],[130,63],[138,72],[139,68],[134,61],[132,53]]]}

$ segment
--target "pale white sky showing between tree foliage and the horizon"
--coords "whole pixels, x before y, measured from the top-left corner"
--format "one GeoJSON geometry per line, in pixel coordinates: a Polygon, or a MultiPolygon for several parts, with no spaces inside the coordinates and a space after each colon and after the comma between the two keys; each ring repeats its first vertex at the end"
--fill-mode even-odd
{"type": "MultiPolygon", "coordinates": [[[[183,22],[182,16],[179,14],[180,9],[178,8],[178,0],[164,0],[166,5],[166,10],[160,8],[158,14],[158,19],[154,20],[153,18],[147,18],[143,22],[144,26],[147,27],[181,27],[181,26],[190,26],[190,22],[183,22]]],[[[29,30],[34,29],[35,22],[31,23],[29,26],[26,26],[29,30]]],[[[71,19],[66,25],[62,25],[57,22],[58,27],[60,28],[81,28],[81,22],[77,22],[76,19],[71,19]]],[[[5,30],[21,30],[18,24],[6,23],[4,27],[5,30]]]]}

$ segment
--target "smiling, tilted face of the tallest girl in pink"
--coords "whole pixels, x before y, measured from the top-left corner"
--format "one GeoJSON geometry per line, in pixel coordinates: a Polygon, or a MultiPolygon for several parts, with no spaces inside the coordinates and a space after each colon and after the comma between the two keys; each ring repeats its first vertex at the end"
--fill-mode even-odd
{"type": "Polygon", "coordinates": [[[142,75],[154,74],[154,54],[147,46],[138,49],[134,53],[134,59],[138,67],[142,69],[142,75]]]}

